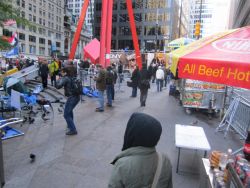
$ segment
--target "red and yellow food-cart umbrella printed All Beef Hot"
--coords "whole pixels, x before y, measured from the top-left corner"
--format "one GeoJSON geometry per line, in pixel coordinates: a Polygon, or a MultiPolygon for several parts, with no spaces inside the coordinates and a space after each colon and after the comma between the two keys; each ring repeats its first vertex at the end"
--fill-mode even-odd
{"type": "Polygon", "coordinates": [[[250,26],[195,41],[171,53],[171,71],[189,78],[250,89],[250,26]]]}

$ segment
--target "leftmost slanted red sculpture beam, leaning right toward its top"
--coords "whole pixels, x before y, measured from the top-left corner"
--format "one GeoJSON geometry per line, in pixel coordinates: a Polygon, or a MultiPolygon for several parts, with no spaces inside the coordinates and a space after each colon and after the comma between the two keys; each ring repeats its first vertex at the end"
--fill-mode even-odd
{"type": "Polygon", "coordinates": [[[75,57],[77,44],[78,44],[79,39],[80,39],[82,26],[83,26],[83,23],[84,23],[84,19],[85,19],[85,16],[86,16],[88,6],[89,6],[89,0],[84,0],[82,10],[81,10],[81,16],[80,16],[80,19],[78,21],[77,29],[76,29],[76,32],[75,32],[75,35],[74,35],[72,46],[71,46],[69,59],[74,59],[74,57],[75,57]]]}

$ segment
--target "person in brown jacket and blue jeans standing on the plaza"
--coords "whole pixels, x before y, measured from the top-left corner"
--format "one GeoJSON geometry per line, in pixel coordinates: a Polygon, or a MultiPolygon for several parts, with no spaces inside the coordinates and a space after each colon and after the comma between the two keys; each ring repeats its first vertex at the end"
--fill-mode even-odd
{"type": "Polygon", "coordinates": [[[104,111],[104,91],[106,89],[106,71],[102,65],[96,65],[98,70],[98,76],[94,78],[96,81],[96,89],[98,90],[98,102],[99,107],[96,108],[96,112],[104,111]]]}

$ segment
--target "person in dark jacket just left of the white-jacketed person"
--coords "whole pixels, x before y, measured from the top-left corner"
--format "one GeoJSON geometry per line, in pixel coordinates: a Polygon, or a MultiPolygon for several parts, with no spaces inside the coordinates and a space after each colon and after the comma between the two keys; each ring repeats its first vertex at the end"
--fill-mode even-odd
{"type": "Polygon", "coordinates": [[[139,84],[140,89],[140,103],[141,106],[146,106],[146,100],[148,96],[148,89],[150,88],[150,73],[147,70],[147,65],[142,64],[142,69],[139,72],[139,84]]]}

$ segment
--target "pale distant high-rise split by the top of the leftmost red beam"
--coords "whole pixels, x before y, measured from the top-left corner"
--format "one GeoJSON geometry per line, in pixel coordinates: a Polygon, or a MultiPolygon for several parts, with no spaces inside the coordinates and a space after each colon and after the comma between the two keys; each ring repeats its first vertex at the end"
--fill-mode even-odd
{"type": "MultiPolygon", "coordinates": [[[[75,16],[76,20],[79,19],[84,0],[67,0],[66,5],[68,10],[75,16]]],[[[89,35],[93,36],[93,21],[94,21],[94,0],[89,1],[89,6],[87,9],[84,29],[86,29],[89,35]]]]}

